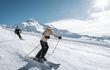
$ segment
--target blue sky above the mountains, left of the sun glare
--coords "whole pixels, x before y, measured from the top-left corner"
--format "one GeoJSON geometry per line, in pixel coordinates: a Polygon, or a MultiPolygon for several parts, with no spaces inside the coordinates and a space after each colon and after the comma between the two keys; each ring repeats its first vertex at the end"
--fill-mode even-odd
{"type": "Polygon", "coordinates": [[[0,24],[34,18],[41,23],[88,17],[90,0],[0,0],[0,24]]]}

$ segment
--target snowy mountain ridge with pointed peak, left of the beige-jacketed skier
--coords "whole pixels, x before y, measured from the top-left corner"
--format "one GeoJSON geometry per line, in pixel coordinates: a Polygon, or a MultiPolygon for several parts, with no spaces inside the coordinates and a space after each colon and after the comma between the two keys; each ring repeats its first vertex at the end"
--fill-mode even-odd
{"type": "Polygon", "coordinates": [[[3,28],[11,28],[15,29],[17,26],[22,30],[22,31],[27,31],[27,32],[37,32],[41,33],[44,31],[44,25],[39,23],[33,18],[30,18],[26,20],[25,22],[19,23],[19,24],[14,24],[14,25],[1,25],[3,28]]]}

